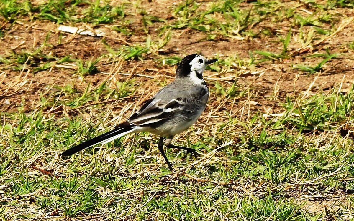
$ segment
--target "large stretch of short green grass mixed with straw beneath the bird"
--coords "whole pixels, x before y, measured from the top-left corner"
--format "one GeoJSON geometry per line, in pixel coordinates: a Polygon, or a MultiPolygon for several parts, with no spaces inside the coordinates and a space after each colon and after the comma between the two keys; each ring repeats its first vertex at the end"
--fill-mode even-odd
{"type": "MultiPolygon", "coordinates": [[[[91,93],[85,91],[84,100],[78,97],[67,102],[67,105],[77,107],[79,103],[87,103],[89,94],[96,93],[100,88],[102,86],[91,93]]],[[[65,91],[70,90],[67,88],[65,91]]],[[[144,141],[147,134],[131,136],[127,141],[121,138],[103,149],[90,148],[67,160],[60,160],[59,151],[80,142],[80,139],[106,131],[102,129],[105,125],[102,119],[111,116],[102,108],[93,108],[91,110],[95,111],[95,115],[89,119],[80,115],[70,119],[56,118],[43,112],[45,106],[53,104],[42,100],[42,107],[30,114],[19,110],[18,113],[2,115],[2,122],[16,122],[3,124],[0,128],[5,137],[5,145],[1,145],[1,157],[5,159],[0,166],[1,179],[5,184],[2,194],[5,198],[17,196],[17,199],[4,201],[3,209],[5,214],[14,214],[16,219],[30,218],[31,214],[17,216],[15,211],[10,210],[17,205],[23,209],[29,208],[32,205],[26,202],[33,198],[35,207],[41,213],[57,210],[59,217],[113,210],[112,218],[135,214],[133,217],[137,220],[156,214],[160,217],[158,219],[186,217],[190,220],[218,220],[212,216],[215,212],[235,220],[264,217],[308,220],[312,216],[301,210],[301,204],[286,197],[290,193],[285,189],[286,185],[325,192],[335,189],[350,191],[354,188],[352,183],[343,184],[340,181],[354,175],[354,158],[348,155],[352,141],[336,137],[331,142],[327,140],[319,144],[319,141],[311,141],[311,136],[303,133],[304,130],[315,130],[320,138],[322,133],[334,133],[336,125],[348,118],[353,91],[345,96],[335,91],[329,95],[297,100],[303,119],[292,116],[270,121],[257,119],[258,114],[255,114],[251,121],[233,120],[216,133],[216,137],[203,137],[194,148],[213,156],[214,149],[235,139],[233,133],[236,131],[224,131],[238,125],[241,125],[239,130],[249,131],[239,136],[240,142],[219,149],[212,161],[201,161],[190,167],[192,159],[185,161],[181,159],[181,154],[167,151],[170,160],[177,162],[190,175],[225,183],[232,180],[235,185],[230,187],[198,183],[188,177],[171,174],[159,157],[156,139],[153,138],[151,143],[144,141]],[[333,110],[336,110],[335,115],[331,114],[333,110]],[[315,129],[311,127],[313,124],[316,124],[315,129]],[[149,150],[145,150],[145,145],[149,150]],[[153,157],[144,157],[148,155],[153,157]],[[41,157],[34,165],[53,168],[59,177],[45,176],[28,168],[37,156],[41,157]],[[11,159],[17,159],[18,163],[11,163],[11,159]],[[157,170],[149,171],[155,165],[157,170]],[[326,177],[334,171],[337,173],[326,177]],[[150,176],[143,173],[150,173],[150,176]],[[8,174],[13,175],[9,177],[8,174]],[[314,183],[301,184],[312,180],[315,180],[314,183]],[[261,191],[261,196],[251,194],[253,197],[249,198],[249,193],[238,191],[238,186],[250,181],[267,184],[266,189],[256,187],[255,190],[261,191]]],[[[287,99],[285,112],[294,109],[296,112],[293,102],[293,98],[287,99]]]]}

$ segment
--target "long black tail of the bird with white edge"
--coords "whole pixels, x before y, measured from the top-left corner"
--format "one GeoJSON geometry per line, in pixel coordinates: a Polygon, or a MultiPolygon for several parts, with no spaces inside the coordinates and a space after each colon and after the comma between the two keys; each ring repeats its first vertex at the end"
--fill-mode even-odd
{"type": "Polygon", "coordinates": [[[98,137],[95,137],[95,138],[92,138],[88,141],[85,141],[84,143],[76,145],[75,147],[72,147],[69,150],[64,151],[60,155],[61,156],[70,156],[72,154],[78,153],[80,150],[92,147],[93,145],[101,144],[101,143],[108,143],[110,141],[113,141],[114,139],[117,139],[121,136],[127,135],[133,131],[134,131],[134,129],[131,127],[117,128],[117,129],[111,130],[107,133],[104,133],[103,135],[100,135],[98,137]]]}

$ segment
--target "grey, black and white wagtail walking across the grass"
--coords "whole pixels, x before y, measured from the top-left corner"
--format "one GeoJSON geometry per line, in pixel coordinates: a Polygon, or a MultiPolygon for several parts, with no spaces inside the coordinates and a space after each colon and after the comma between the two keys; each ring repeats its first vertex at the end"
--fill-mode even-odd
{"type": "Polygon", "coordinates": [[[173,136],[194,124],[204,111],[209,99],[209,90],[202,74],[206,66],[215,61],[217,59],[208,60],[198,54],[185,56],[178,64],[175,80],[145,101],[127,121],[112,131],[70,148],[61,155],[70,156],[85,148],[105,144],[130,133],[150,132],[160,136],[158,148],[172,171],[162,147],[165,145],[167,148],[195,153],[192,148],[171,145],[171,140],[173,136]],[[167,139],[164,142],[165,137],[167,139]]]}

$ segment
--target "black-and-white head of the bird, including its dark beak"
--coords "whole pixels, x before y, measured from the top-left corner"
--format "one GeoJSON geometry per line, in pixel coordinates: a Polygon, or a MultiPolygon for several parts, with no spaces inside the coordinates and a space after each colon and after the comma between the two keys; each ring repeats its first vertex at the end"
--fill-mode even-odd
{"type": "Polygon", "coordinates": [[[191,77],[203,79],[203,71],[206,66],[214,63],[217,59],[208,60],[199,54],[190,54],[185,56],[179,62],[176,70],[176,78],[191,77]]]}

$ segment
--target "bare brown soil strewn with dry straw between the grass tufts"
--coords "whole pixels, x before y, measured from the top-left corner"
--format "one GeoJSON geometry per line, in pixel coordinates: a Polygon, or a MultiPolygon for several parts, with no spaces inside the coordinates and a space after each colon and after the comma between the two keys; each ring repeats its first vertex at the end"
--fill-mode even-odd
{"type": "MultiPolygon", "coordinates": [[[[158,16],[167,20],[175,19],[169,7],[169,2],[170,1],[161,1],[160,4],[156,4],[155,1],[142,1],[141,8],[149,8],[149,10],[146,10],[146,13],[152,16],[158,16]]],[[[112,1],[112,4],[115,3],[119,4],[119,1],[112,1]]],[[[354,15],[353,10],[350,9],[341,9],[339,13],[346,14],[348,17],[354,15]]],[[[130,24],[130,29],[135,32],[135,35],[131,37],[117,34],[117,32],[110,29],[109,24],[97,27],[105,31],[107,35],[105,41],[112,48],[120,48],[122,44],[125,44],[124,42],[129,44],[141,44],[145,42],[146,34],[144,34],[144,27],[140,20],[141,15],[130,15],[130,18],[133,19],[132,24],[130,24]]],[[[71,55],[72,58],[88,61],[108,53],[102,43],[101,37],[73,36],[72,34],[60,33],[55,23],[46,20],[29,21],[26,19],[27,18],[23,18],[21,22],[16,22],[13,26],[5,22],[0,22],[0,26],[4,27],[4,30],[8,30],[5,36],[0,38],[0,56],[6,57],[13,51],[16,53],[22,51],[33,52],[41,46],[48,33],[50,37],[47,44],[51,46],[45,47],[43,51],[45,54],[58,57],[71,55]],[[58,44],[60,35],[62,35],[62,43],[58,44]]],[[[341,23],[341,21],[338,23],[341,23]]],[[[77,25],[80,26],[80,24],[77,25]]],[[[152,41],[156,41],[160,38],[155,30],[158,26],[159,23],[154,23],[148,30],[152,41]]],[[[276,30],[278,34],[286,35],[289,30],[289,22],[285,21],[274,26],[269,20],[264,20],[254,26],[253,29],[260,30],[265,27],[276,30]]],[[[215,83],[220,83],[227,87],[234,82],[236,77],[226,80],[224,77],[238,76],[238,86],[240,86],[240,90],[250,89],[250,93],[256,96],[254,100],[258,102],[257,105],[251,105],[247,108],[249,108],[250,111],[261,110],[261,112],[269,107],[271,107],[274,112],[282,111],[276,101],[284,100],[286,96],[292,96],[294,93],[296,95],[304,93],[314,80],[315,83],[309,90],[309,93],[326,92],[333,87],[339,86],[341,83],[343,83],[342,90],[346,91],[354,81],[354,52],[346,47],[346,44],[353,41],[352,33],[354,33],[354,23],[347,25],[335,36],[324,40],[309,51],[295,53],[290,59],[263,62],[253,66],[252,69],[250,67],[233,67],[234,69],[230,71],[222,70],[218,76],[213,77],[219,78],[219,80],[207,80],[207,83],[210,84],[211,88],[215,83]],[[339,59],[328,62],[324,66],[323,71],[316,74],[306,74],[292,68],[292,64],[299,63],[315,66],[323,58],[304,59],[304,56],[311,54],[311,52],[326,53],[325,50],[327,48],[330,49],[331,53],[345,53],[345,55],[341,56],[339,59]],[[264,74],[260,76],[259,73],[263,71],[264,74]],[[258,73],[250,74],[250,72],[258,73]]],[[[295,37],[298,35],[296,29],[293,31],[293,35],[295,37]]],[[[216,55],[220,55],[222,58],[237,55],[241,60],[248,61],[250,58],[249,51],[264,50],[273,51],[275,53],[281,52],[282,45],[277,42],[277,40],[277,37],[260,35],[253,39],[237,40],[235,38],[219,37],[215,41],[207,41],[204,33],[193,29],[172,30],[171,39],[161,53],[164,56],[179,57],[191,53],[201,53],[207,58],[213,58],[216,55]]],[[[289,50],[296,52],[299,47],[301,47],[301,45],[298,43],[291,42],[289,50]]],[[[137,84],[141,85],[135,94],[137,97],[136,100],[142,100],[140,99],[141,97],[154,94],[155,91],[161,88],[158,82],[164,81],[165,79],[167,82],[173,80],[172,77],[176,68],[175,66],[162,65],[161,62],[157,62],[156,60],[160,58],[160,56],[161,55],[158,53],[146,54],[142,61],[121,61],[119,73],[115,73],[116,80],[125,82],[127,79],[133,77],[137,84]],[[121,74],[132,73],[132,70],[133,76],[121,74]],[[134,76],[134,74],[142,74],[148,77],[134,76]],[[146,92],[145,90],[147,89],[151,90],[151,92],[146,92]]],[[[260,57],[261,56],[258,56],[258,58],[260,57]]],[[[99,85],[104,82],[104,80],[107,80],[107,73],[109,73],[115,65],[105,61],[107,61],[107,59],[102,59],[98,63],[99,73],[86,76],[84,80],[80,79],[78,74],[75,73],[75,70],[70,68],[53,67],[50,70],[33,74],[31,71],[28,71],[27,67],[24,68],[23,71],[14,71],[8,69],[7,65],[0,63],[0,112],[17,112],[18,108],[21,106],[24,107],[25,112],[32,112],[40,101],[40,96],[48,94],[52,86],[71,84],[74,85],[77,90],[84,91],[89,83],[94,86],[99,85]]],[[[206,71],[206,79],[207,76],[212,74],[215,74],[215,72],[206,71]]],[[[221,99],[222,98],[217,95],[211,94],[206,113],[200,119],[201,122],[208,122],[207,124],[211,125],[213,118],[207,117],[209,113],[222,117],[225,113],[232,111],[235,117],[241,115],[240,108],[244,105],[241,100],[229,100],[225,102],[222,107],[218,107],[219,104],[222,103],[221,99]]],[[[122,107],[127,102],[136,102],[136,100],[119,101],[118,105],[122,107]]],[[[64,114],[63,108],[57,109],[56,111],[59,112],[59,116],[64,114]]],[[[121,108],[114,108],[113,111],[119,114],[121,108]]],[[[217,122],[217,120],[215,121],[217,122]]],[[[305,198],[306,197],[307,196],[305,196],[305,198]]],[[[316,197],[305,198],[299,198],[301,202],[306,201],[303,209],[310,212],[313,211],[314,213],[324,211],[325,208],[336,207],[337,202],[345,201],[339,195],[325,196],[320,200],[316,197]]]]}

